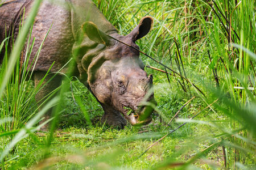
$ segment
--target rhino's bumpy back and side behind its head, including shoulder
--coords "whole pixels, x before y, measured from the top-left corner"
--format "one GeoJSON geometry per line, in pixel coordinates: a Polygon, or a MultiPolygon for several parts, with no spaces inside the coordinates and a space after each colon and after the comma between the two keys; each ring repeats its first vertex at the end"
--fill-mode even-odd
{"type": "MultiPolygon", "coordinates": [[[[52,65],[51,71],[59,71],[61,67],[69,61],[72,57],[72,50],[80,48],[81,53],[77,54],[76,62],[80,74],[86,72],[82,69],[81,59],[88,53],[89,50],[95,50],[97,44],[88,39],[86,35],[81,35],[81,25],[85,22],[93,22],[99,29],[105,33],[117,32],[114,26],[106,20],[105,16],[98,10],[96,5],[89,0],[59,0],[43,1],[36,15],[35,22],[31,32],[31,41],[35,38],[35,43],[32,49],[31,57],[29,60],[29,66],[32,65],[32,61],[44,37],[46,40],[43,43],[38,61],[35,65],[35,71],[47,71],[52,65]],[[54,4],[55,3],[55,4],[54,4]],[[81,42],[77,42],[79,37],[82,37],[81,42]]],[[[18,36],[20,18],[22,18],[23,7],[25,7],[25,16],[29,14],[32,7],[32,0],[18,0],[13,1],[9,5],[3,5],[0,7],[1,32],[5,30],[2,20],[6,25],[14,24],[14,39],[18,36]],[[26,6],[24,6],[26,3],[26,6]],[[15,11],[15,12],[14,12],[15,11]],[[11,17],[9,13],[12,13],[11,17]],[[16,19],[16,20],[15,20],[16,19]]],[[[4,31],[5,32],[5,31],[4,31]]],[[[2,38],[3,39],[3,38],[2,38]]],[[[1,40],[2,40],[1,39],[1,40]]],[[[23,58],[26,54],[26,47],[28,42],[24,45],[23,58]]],[[[66,72],[67,69],[63,69],[61,72],[66,72]]]]}

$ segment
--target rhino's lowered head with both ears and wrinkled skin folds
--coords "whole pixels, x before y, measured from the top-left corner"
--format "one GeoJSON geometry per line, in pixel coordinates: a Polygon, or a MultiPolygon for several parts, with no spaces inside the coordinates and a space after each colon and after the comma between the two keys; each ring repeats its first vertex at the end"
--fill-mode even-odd
{"type": "MultiPolygon", "coordinates": [[[[135,41],[145,36],[151,25],[152,18],[146,16],[128,35],[115,32],[111,36],[139,49],[135,41]]],[[[86,22],[82,30],[100,49],[82,58],[81,65],[86,70],[90,91],[105,111],[101,120],[120,128],[126,120],[134,126],[148,124],[154,109],[143,101],[156,102],[151,90],[152,75],[144,71],[138,50],[112,39],[91,22],[86,22]]]]}

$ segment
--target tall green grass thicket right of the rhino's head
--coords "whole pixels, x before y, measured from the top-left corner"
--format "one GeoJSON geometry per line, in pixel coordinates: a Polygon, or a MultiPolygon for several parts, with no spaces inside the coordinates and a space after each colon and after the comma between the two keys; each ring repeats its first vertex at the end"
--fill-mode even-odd
{"type": "MultiPolygon", "coordinates": [[[[124,24],[121,33],[126,35],[130,30],[124,31],[127,25],[138,22],[136,9],[140,10],[141,17],[151,15],[155,20],[154,28],[150,36],[139,41],[141,49],[196,83],[208,97],[192,89],[189,82],[171,77],[185,94],[200,96],[206,105],[219,99],[212,111],[220,115],[212,121],[218,121],[218,117],[223,117],[225,121],[214,125],[221,135],[216,134],[212,149],[223,146],[225,167],[241,168],[241,164],[246,163],[253,165],[256,120],[253,58],[255,2],[136,1],[132,4],[135,8],[125,8],[130,17],[126,17],[127,24],[124,24]]],[[[148,65],[162,67],[145,56],[142,58],[148,65]]],[[[163,67],[161,69],[164,70],[163,67]]],[[[162,82],[158,79],[162,76],[155,71],[153,73],[156,82],[162,82]]],[[[201,154],[199,152],[198,155],[201,154]]]]}

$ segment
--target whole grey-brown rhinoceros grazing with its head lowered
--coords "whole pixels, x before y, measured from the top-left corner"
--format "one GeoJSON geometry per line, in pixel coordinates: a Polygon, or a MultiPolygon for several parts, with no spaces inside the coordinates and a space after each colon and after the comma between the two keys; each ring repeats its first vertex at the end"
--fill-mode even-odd
{"type": "MultiPolygon", "coordinates": [[[[26,19],[32,2],[17,0],[2,4],[0,42],[5,39],[6,33],[13,32],[16,38],[23,15],[26,19]]],[[[152,75],[147,76],[139,52],[134,48],[139,49],[135,41],[147,35],[152,23],[152,18],[145,16],[133,31],[122,36],[92,1],[43,1],[31,32],[31,36],[35,37],[31,56],[35,56],[49,30],[34,67],[35,86],[53,62],[51,72],[59,71],[71,57],[76,58],[72,74],[89,88],[101,104],[104,109],[102,122],[120,128],[126,125],[126,120],[131,125],[148,124],[153,109],[141,103],[155,103],[153,93],[144,99],[152,87],[152,75]]],[[[29,65],[34,65],[32,59],[29,65]]],[[[21,61],[24,62],[24,58],[21,61]]],[[[61,71],[66,73],[67,67],[61,71]]],[[[44,81],[47,82],[49,78],[51,76],[47,76],[44,81]]],[[[36,101],[60,86],[60,82],[61,75],[58,75],[47,83],[35,96],[36,101]]]]}

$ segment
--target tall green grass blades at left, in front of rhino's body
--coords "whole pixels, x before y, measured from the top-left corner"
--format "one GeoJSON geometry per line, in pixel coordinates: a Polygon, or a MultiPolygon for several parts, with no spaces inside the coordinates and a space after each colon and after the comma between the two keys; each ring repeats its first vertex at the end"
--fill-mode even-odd
{"type": "Polygon", "coordinates": [[[27,37],[28,42],[30,42],[30,30],[41,2],[42,1],[35,1],[33,3],[33,10],[31,10],[30,15],[28,15],[26,22],[22,24],[10,54],[7,48],[10,43],[10,37],[7,37],[1,44],[0,50],[3,50],[4,43],[6,47],[5,56],[0,67],[0,137],[2,143],[0,162],[2,169],[5,169],[6,163],[13,159],[10,158],[9,153],[15,151],[17,143],[28,137],[28,134],[39,130],[43,125],[36,124],[42,118],[43,114],[46,113],[52,105],[56,104],[56,99],[53,99],[38,112],[39,107],[36,105],[34,97],[40,90],[40,86],[45,77],[37,87],[31,88],[34,69],[32,65],[28,66],[28,60],[30,57],[34,57],[35,63],[42,46],[40,46],[36,56],[31,56],[34,39],[32,40],[32,44],[28,43],[27,46],[24,47],[26,48],[26,54],[24,54],[24,56],[20,55],[27,37]],[[20,59],[20,56],[24,59],[24,62],[20,59]],[[21,65],[20,63],[22,62],[23,64],[21,65]],[[27,72],[27,70],[30,71],[27,72]]]}

